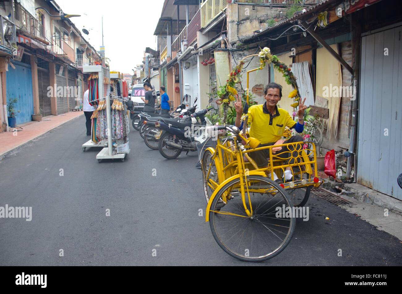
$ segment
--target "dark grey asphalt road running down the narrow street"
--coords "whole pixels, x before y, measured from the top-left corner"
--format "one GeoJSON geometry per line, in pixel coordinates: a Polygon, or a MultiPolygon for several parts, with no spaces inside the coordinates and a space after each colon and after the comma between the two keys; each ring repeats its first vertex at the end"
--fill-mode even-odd
{"type": "Polygon", "coordinates": [[[402,265],[396,237],[315,196],[281,254],[238,261],[199,216],[196,153],[164,159],[131,128],[127,159],[98,163],[84,128],[81,116],[0,161],[0,206],[33,207],[30,222],[0,218],[0,265],[402,265]]]}

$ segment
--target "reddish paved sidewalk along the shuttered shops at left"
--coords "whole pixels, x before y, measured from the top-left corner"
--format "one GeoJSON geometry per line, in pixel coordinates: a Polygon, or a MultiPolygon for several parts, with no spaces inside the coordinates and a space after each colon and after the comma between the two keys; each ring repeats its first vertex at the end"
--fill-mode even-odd
{"type": "Polygon", "coordinates": [[[60,115],[45,116],[40,122],[32,121],[18,125],[18,127],[23,128],[22,130],[16,127],[16,132],[0,133],[0,160],[3,158],[4,154],[10,152],[12,149],[24,145],[36,137],[39,137],[81,115],[84,115],[83,111],[73,111],[60,115]]]}

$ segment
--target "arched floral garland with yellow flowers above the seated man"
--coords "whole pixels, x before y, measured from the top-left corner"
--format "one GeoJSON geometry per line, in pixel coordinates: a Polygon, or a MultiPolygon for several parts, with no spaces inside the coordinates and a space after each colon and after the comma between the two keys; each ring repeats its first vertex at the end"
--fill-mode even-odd
{"type": "MultiPolygon", "coordinates": [[[[218,91],[219,99],[216,101],[217,104],[223,104],[224,108],[224,122],[226,122],[227,118],[227,110],[229,104],[236,100],[235,96],[238,94],[236,90],[236,84],[240,84],[240,78],[242,76],[242,69],[244,67],[244,59],[253,56],[249,55],[242,59],[236,67],[230,72],[228,75],[228,80],[226,80],[226,84],[220,87],[218,91]]],[[[293,99],[293,103],[290,105],[293,107],[293,117],[297,116],[297,107],[299,106],[300,93],[298,90],[296,77],[291,72],[291,68],[287,67],[285,63],[280,61],[276,55],[271,54],[271,50],[268,47],[264,47],[261,49],[260,53],[258,53],[258,57],[260,58],[260,67],[258,69],[263,69],[267,64],[273,64],[274,68],[283,74],[285,78],[286,84],[291,85],[293,91],[290,92],[289,98],[293,99]]]]}

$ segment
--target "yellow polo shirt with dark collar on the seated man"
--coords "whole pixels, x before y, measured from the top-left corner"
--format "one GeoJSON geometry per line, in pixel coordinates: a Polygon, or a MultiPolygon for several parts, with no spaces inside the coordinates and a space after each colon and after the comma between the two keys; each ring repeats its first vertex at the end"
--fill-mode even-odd
{"type": "Polygon", "coordinates": [[[281,139],[285,127],[292,129],[296,125],[285,109],[275,106],[275,114],[272,115],[265,103],[250,106],[248,123],[251,123],[250,137],[260,140],[261,144],[275,143],[281,139]]]}

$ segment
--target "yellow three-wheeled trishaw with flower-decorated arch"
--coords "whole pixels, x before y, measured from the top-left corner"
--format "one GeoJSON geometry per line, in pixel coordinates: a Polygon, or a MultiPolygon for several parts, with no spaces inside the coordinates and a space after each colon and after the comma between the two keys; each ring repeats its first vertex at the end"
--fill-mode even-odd
{"type": "MultiPolygon", "coordinates": [[[[267,52],[266,49],[263,51],[267,52]]],[[[275,55],[264,56],[261,52],[258,55],[261,66],[247,71],[247,89],[249,74],[262,69],[266,63],[273,63],[275,68],[287,71],[298,96],[297,83],[290,70],[275,55]]],[[[232,73],[240,73],[244,60],[252,56],[245,57],[232,73]]],[[[230,80],[231,77],[232,74],[230,80]]],[[[233,88],[228,89],[234,92],[233,88]]],[[[247,104],[248,98],[247,92],[247,104]]],[[[297,214],[303,213],[302,206],[306,204],[310,189],[320,186],[322,180],[314,168],[316,147],[313,142],[258,147],[260,141],[248,137],[247,113],[245,115],[243,131],[235,126],[215,126],[215,131],[223,133],[216,136],[216,147],[207,148],[201,159],[208,203],[205,216],[213,237],[226,253],[243,261],[264,261],[279,254],[290,242],[297,214]],[[287,146],[289,152],[273,151],[274,147],[282,146],[287,146]],[[262,149],[269,149],[269,166],[263,169],[250,157],[251,152],[262,149]],[[287,167],[291,167],[292,179],[278,184],[273,180],[274,173],[282,178],[287,167]]],[[[289,135],[290,132],[284,134],[289,135]]]]}

